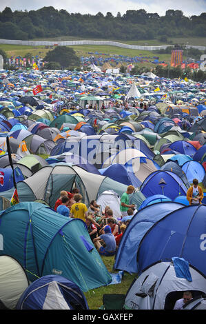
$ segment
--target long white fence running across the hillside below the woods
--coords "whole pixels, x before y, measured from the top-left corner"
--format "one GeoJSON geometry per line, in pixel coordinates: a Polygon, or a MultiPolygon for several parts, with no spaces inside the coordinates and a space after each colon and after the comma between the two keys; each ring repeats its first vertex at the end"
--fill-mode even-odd
{"type": "MultiPolygon", "coordinates": [[[[74,46],[74,45],[110,45],[117,46],[119,48],[128,48],[131,50],[165,50],[170,46],[174,45],[160,45],[160,46],[141,46],[141,45],[129,45],[124,43],[119,43],[116,41],[18,41],[11,39],[0,39],[1,44],[10,45],[29,45],[29,46],[42,46],[42,45],[59,45],[59,46],[74,46]]],[[[198,50],[206,50],[206,46],[196,46],[196,45],[185,45],[185,48],[197,48],[198,50]]]]}

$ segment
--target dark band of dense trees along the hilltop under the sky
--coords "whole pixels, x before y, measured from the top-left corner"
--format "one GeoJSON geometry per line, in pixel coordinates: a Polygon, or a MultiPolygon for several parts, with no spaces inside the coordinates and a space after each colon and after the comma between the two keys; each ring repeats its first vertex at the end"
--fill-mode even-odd
{"type": "Polygon", "coordinates": [[[111,12],[103,15],[70,13],[52,6],[39,10],[12,10],[0,12],[2,39],[28,40],[72,36],[90,39],[167,41],[167,37],[205,37],[206,12],[185,17],[181,10],[167,10],[165,16],[147,13],[144,9],[111,12]]]}

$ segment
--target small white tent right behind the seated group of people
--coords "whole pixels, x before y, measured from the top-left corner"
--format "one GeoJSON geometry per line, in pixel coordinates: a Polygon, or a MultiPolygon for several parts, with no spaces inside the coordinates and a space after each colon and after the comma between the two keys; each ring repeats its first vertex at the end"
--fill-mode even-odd
{"type": "Polygon", "coordinates": [[[97,199],[96,203],[101,205],[101,209],[104,210],[106,206],[110,206],[113,211],[114,218],[121,217],[120,211],[120,197],[116,192],[112,190],[104,191],[99,198],[97,199]]]}

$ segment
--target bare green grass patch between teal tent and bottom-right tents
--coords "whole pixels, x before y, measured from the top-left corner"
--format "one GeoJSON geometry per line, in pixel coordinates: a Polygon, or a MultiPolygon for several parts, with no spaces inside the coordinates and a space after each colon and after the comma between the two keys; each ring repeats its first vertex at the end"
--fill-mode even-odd
{"type": "MultiPolygon", "coordinates": [[[[118,271],[112,270],[114,265],[114,256],[101,256],[105,267],[110,273],[117,273],[118,271]]],[[[136,274],[129,274],[124,272],[122,282],[117,285],[108,285],[85,292],[85,298],[89,305],[90,310],[99,310],[103,305],[103,294],[126,294],[136,274]]]]}

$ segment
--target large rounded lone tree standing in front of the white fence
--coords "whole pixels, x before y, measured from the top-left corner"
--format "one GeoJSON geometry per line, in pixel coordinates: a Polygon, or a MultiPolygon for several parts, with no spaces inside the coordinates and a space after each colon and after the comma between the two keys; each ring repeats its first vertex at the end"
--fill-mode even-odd
{"type": "Polygon", "coordinates": [[[76,53],[72,48],[67,46],[57,46],[54,50],[50,50],[44,61],[58,62],[61,68],[68,68],[80,65],[80,59],[76,56],[76,53]]]}

